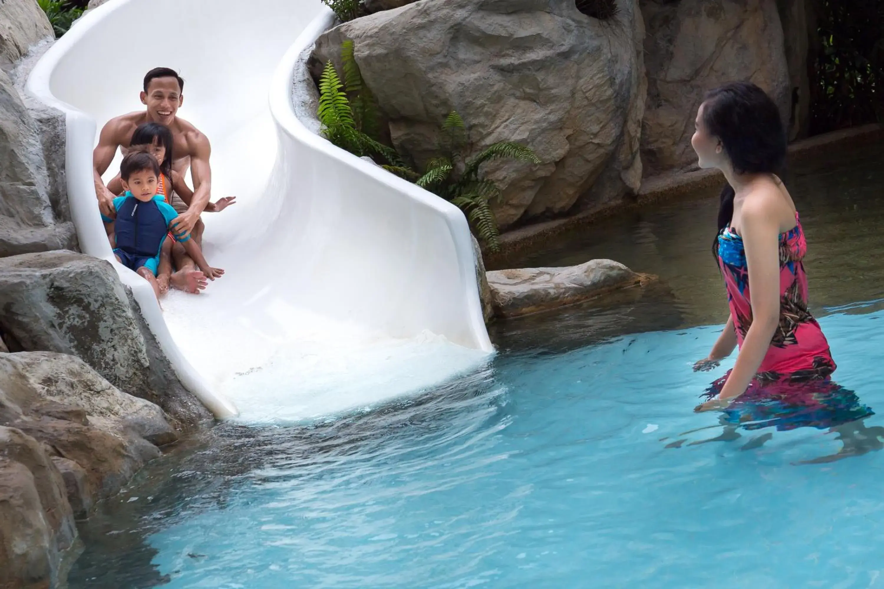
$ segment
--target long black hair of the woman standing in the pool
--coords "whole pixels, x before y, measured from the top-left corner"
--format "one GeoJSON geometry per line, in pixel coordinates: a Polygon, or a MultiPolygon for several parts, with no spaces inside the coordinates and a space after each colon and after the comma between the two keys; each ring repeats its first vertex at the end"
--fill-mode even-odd
{"type": "MultiPolygon", "coordinates": [[[[706,132],[721,141],[737,174],[779,174],[786,162],[786,131],[780,109],[765,91],[750,82],[730,82],[706,93],[703,100],[706,132]]],[[[721,190],[718,236],[734,216],[734,187],[721,190]]]]}

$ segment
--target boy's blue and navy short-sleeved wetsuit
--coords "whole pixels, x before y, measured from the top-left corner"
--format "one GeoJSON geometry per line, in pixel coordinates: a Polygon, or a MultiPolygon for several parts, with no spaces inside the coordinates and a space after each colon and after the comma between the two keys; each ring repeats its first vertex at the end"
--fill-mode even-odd
{"type": "MultiPolygon", "coordinates": [[[[169,223],[178,217],[178,213],[160,195],[142,202],[132,193],[126,193],[113,200],[113,207],[117,211],[116,220],[102,215],[106,223],[114,222],[117,248],[113,253],[126,268],[137,270],[143,266],[156,276],[169,223]]],[[[176,239],[184,242],[189,238],[176,239]]]]}

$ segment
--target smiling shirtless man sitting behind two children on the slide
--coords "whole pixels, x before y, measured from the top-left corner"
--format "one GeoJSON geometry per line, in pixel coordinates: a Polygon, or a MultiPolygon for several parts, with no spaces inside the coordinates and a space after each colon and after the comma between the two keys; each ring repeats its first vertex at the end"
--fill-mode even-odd
{"type": "MultiPolygon", "coordinates": [[[[102,174],[110,166],[117,148],[126,155],[129,141],[135,128],[142,123],[154,122],[166,125],[172,134],[172,170],[181,177],[191,169],[194,181],[194,194],[187,206],[177,194],[172,195],[171,206],[179,216],[171,223],[172,230],[179,237],[190,235],[194,226],[200,222],[200,214],[209,204],[211,193],[211,170],[209,156],[211,147],[209,140],[194,125],[176,116],[184,102],[184,80],[178,72],[165,67],[157,67],[144,77],[144,90],[141,92],[141,103],[147,110],[131,112],[121,117],[111,118],[104,125],[98,139],[98,146],[92,155],[93,175],[95,177],[95,196],[102,214],[113,214],[113,199],[117,196],[108,190],[102,180],[102,174]]],[[[196,268],[193,260],[183,251],[173,253],[178,271],[171,275],[171,285],[175,288],[198,293],[208,284],[206,277],[196,268]]]]}

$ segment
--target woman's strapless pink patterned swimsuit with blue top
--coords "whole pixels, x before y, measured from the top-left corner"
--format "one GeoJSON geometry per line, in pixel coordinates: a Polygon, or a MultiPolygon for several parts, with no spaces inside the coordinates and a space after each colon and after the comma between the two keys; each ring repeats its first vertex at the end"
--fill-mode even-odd
{"type": "MultiPolygon", "coordinates": [[[[807,310],[807,275],[803,263],[807,242],[797,213],[795,221],[795,228],[780,234],[780,324],[758,368],[756,378],[759,383],[822,379],[835,369],[826,336],[807,310]]],[[[749,270],[743,238],[729,228],[722,230],[718,238],[718,257],[728,289],[736,340],[742,347],[752,324],[749,270]]]]}

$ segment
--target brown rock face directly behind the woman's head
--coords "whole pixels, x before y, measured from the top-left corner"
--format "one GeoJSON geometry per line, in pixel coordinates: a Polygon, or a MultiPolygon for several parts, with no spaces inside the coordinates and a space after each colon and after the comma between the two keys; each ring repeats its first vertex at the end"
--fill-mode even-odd
{"type": "Polygon", "coordinates": [[[688,167],[703,94],[751,80],[789,122],[791,91],[776,0],[641,0],[648,99],[642,132],[646,174],[688,167]]]}

